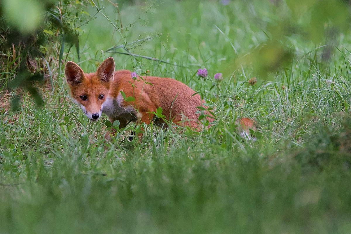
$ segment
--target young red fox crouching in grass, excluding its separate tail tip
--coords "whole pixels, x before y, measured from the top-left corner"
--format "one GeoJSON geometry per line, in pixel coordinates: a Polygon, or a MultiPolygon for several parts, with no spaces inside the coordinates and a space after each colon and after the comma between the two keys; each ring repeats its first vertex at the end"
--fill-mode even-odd
{"type": "MultiPolygon", "coordinates": [[[[119,120],[120,128],[126,127],[130,121],[164,124],[160,119],[155,120],[153,114],[161,107],[164,119],[176,125],[199,128],[197,107],[205,102],[199,94],[194,95],[190,87],[171,78],[154,76],[143,76],[133,81],[132,72],[114,69],[112,57],[103,61],[95,73],[84,73],[72,61],[66,63],[65,76],[73,100],[90,120],[97,121],[105,113],[111,123],[119,120]]],[[[204,114],[208,121],[213,121],[207,111],[204,114]]],[[[139,137],[142,135],[138,133],[139,137]]],[[[109,136],[107,132],[105,138],[109,136]]]]}

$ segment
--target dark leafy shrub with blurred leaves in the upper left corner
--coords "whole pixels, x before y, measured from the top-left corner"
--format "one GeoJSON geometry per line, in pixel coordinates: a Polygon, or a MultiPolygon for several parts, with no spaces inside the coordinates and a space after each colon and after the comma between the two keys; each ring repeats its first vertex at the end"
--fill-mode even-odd
{"type": "MultiPolygon", "coordinates": [[[[8,71],[2,73],[8,77],[1,79],[2,88],[8,84],[11,89],[24,89],[41,106],[35,81],[49,77],[53,85],[50,65],[60,66],[65,43],[75,46],[79,60],[79,25],[89,15],[83,7],[79,1],[71,4],[68,0],[1,1],[0,59],[4,71],[8,71]],[[15,74],[15,78],[9,74],[15,74]]],[[[14,109],[19,101],[16,95],[12,100],[14,109]]]]}

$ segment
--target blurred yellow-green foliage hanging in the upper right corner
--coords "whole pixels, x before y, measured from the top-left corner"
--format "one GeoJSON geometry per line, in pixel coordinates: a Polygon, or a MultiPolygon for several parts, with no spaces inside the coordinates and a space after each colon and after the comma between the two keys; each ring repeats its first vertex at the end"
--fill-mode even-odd
{"type": "MultiPolygon", "coordinates": [[[[267,9],[274,17],[267,20],[266,43],[254,48],[252,53],[245,54],[237,61],[237,66],[252,64],[259,78],[267,78],[269,72],[279,71],[290,67],[296,59],[289,37],[296,35],[303,40],[311,41],[316,47],[327,45],[323,58],[330,58],[336,38],[340,34],[350,32],[350,4],[344,0],[277,0],[271,1],[267,9]],[[307,23],[308,22],[308,23],[307,23]]],[[[257,24],[264,28],[257,16],[257,24]]]]}

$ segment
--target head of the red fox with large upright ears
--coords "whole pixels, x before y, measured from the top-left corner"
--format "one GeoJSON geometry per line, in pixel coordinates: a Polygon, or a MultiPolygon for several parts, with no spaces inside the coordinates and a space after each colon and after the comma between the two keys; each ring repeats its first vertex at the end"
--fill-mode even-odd
{"type": "Polygon", "coordinates": [[[71,95],[92,121],[100,118],[102,104],[105,102],[113,81],[114,60],[107,58],[95,73],[84,73],[74,62],[68,61],[65,68],[66,81],[71,95]]]}

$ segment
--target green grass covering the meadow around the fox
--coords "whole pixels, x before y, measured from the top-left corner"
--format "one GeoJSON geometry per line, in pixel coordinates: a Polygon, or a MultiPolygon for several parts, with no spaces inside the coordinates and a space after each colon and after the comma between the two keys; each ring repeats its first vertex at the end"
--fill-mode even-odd
{"type": "MultiPolygon", "coordinates": [[[[323,47],[291,34],[291,65],[263,76],[236,61],[271,36],[272,4],[126,2],[120,16],[99,4],[106,8],[80,28],[84,71],[112,55],[117,69],[196,91],[198,68],[212,80],[222,72],[218,86],[202,86],[215,126],[200,134],[150,126],[138,143],[122,136],[131,125],[105,143],[106,116],[89,122],[69,99],[64,66],[52,68],[43,108],[24,95],[19,112],[1,110],[0,233],[350,233],[349,36],[325,61],[323,47]],[[104,52],[116,45],[168,63],[104,52]],[[236,134],[244,116],[258,123],[255,142],[236,134]]],[[[78,60],[73,49],[66,56],[78,60]]]]}

